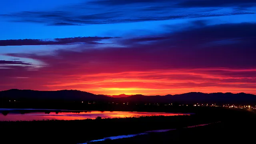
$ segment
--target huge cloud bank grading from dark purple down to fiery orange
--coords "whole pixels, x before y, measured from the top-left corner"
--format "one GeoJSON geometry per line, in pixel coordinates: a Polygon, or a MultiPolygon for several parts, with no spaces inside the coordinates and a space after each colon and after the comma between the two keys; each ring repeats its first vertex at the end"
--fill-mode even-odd
{"type": "Polygon", "coordinates": [[[5,84],[1,89],[78,89],[111,95],[216,90],[256,94],[255,27],[255,23],[196,21],[174,32],[166,26],[157,36],[118,38],[115,47],[79,45],[79,51],[59,49],[54,54],[9,53],[44,65],[35,70],[8,65],[0,70],[5,84]]]}

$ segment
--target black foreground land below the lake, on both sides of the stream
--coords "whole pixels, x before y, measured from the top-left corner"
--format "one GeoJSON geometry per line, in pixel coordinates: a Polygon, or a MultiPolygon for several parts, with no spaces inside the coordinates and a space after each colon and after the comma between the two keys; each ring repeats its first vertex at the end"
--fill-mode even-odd
{"type": "MultiPolygon", "coordinates": [[[[136,134],[148,130],[170,128],[179,128],[180,130],[153,134],[150,137],[145,135],[127,138],[127,142],[136,143],[135,141],[138,141],[137,143],[140,144],[149,142],[160,143],[161,140],[162,143],[169,143],[171,141],[202,142],[206,138],[210,142],[212,140],[222,142],[221,138],[226,138],[225,140],[227,140],[231,136],[238,135],[240,135],[241,139],[244,138],[245,140],[253,138],[250,137],[249,132],[255,130],[255,120],[255,113],[252,110],[202,107],[196,111],[196,114],[190,116],[0,122],[0,129],[2,132],[1,143],[76,144],[108,136],[136,134]],[[219,121],[221,121],[220,124],[206,126],[203,129],[182,129],[186,126],[219,121]],[[169,137],[172,139],[170,140],[169,137]]],[[[125,143],[122,140],[113,140],[111,142],[125,143]]]]}

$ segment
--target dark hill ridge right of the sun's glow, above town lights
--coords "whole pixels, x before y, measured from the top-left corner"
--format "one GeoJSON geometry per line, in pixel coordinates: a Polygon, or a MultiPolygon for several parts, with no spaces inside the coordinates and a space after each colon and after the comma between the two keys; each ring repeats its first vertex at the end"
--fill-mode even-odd
{"type": "Polygon", "coordinates": [[[127,98],[118,98],[127,102],[146,102],[146,103],[218,103],[218,104],[256,104],[256,95],[245,93],[201,93],[189,92],[185,94],[165,95],[165,96],[144,96],[133,95],[127,98]]]}

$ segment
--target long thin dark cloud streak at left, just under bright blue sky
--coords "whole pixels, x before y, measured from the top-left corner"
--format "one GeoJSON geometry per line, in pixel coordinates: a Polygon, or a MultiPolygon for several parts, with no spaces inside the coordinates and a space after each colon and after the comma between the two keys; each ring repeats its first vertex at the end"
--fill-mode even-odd
{"type": "Polygon", "coordinates": [[[110,40],[117,37],[74,37],[54,38],[47,40],[23,39],[23,40],[0,40],[0,46],[26,46],[26,45],[66,45],[66,44],[102,44],[101,40],[110,40]]]}

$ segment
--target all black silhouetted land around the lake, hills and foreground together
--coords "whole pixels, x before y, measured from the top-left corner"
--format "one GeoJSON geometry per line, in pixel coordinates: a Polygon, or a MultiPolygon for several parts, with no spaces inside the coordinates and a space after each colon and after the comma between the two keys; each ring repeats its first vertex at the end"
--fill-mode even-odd
{"type": "MultiPolygon", "coordinates": [[[[0,92],[0,108],[35,108],[64,110],[136,111],[136,112],[181,112],[195,113],[190,116],[151,116],[140,118],[113,118],[96,120],[46,120],[0,122],[0,143],[62,143],[77,144],[108,136],[136,134],[148,130],[178,128],[171,132],[150,134],[111,140],[111,143],[170,143],[170,142],[236,142],[250,140],[250,131],[255,131],[255,113],[252,109],[221,107],[195,107],[194,103],[250,104],[255,105],[252,94],[190,92],[180,95],[111,98],[78,90],[34,91],[7,90],[0,92]],[[151,105],[148,105],[148,104],[151,105]],[[145,105],[146,104],[146,105],[145,105]],[[164,104],[172,104],[164,105],[164,104]],[[179,106],[184,104],[184,106],[179,106]],[[188,104],[188,106],[186,106],[188,104]],[[221,123],[191,129],[186,126],[221,123]],[[224,140],[222,140],[224,139],[224,140]]],[[[49,110],[42,110],[46,114],[49,110]]],[[[20,110],[25,114],[28,110],[20,110]]],[[[79,111],[74,111],[79,112],[79,111]]],[[[2,114],[8,114],[3,111],[2,114]]],[[[244,142],[243,141],[243,142],[244,142]]],[[[107,141],[106,141],[107,142],[107,141]]],[[[106,143],[102,142],[102,143],[106,143]]]]}

